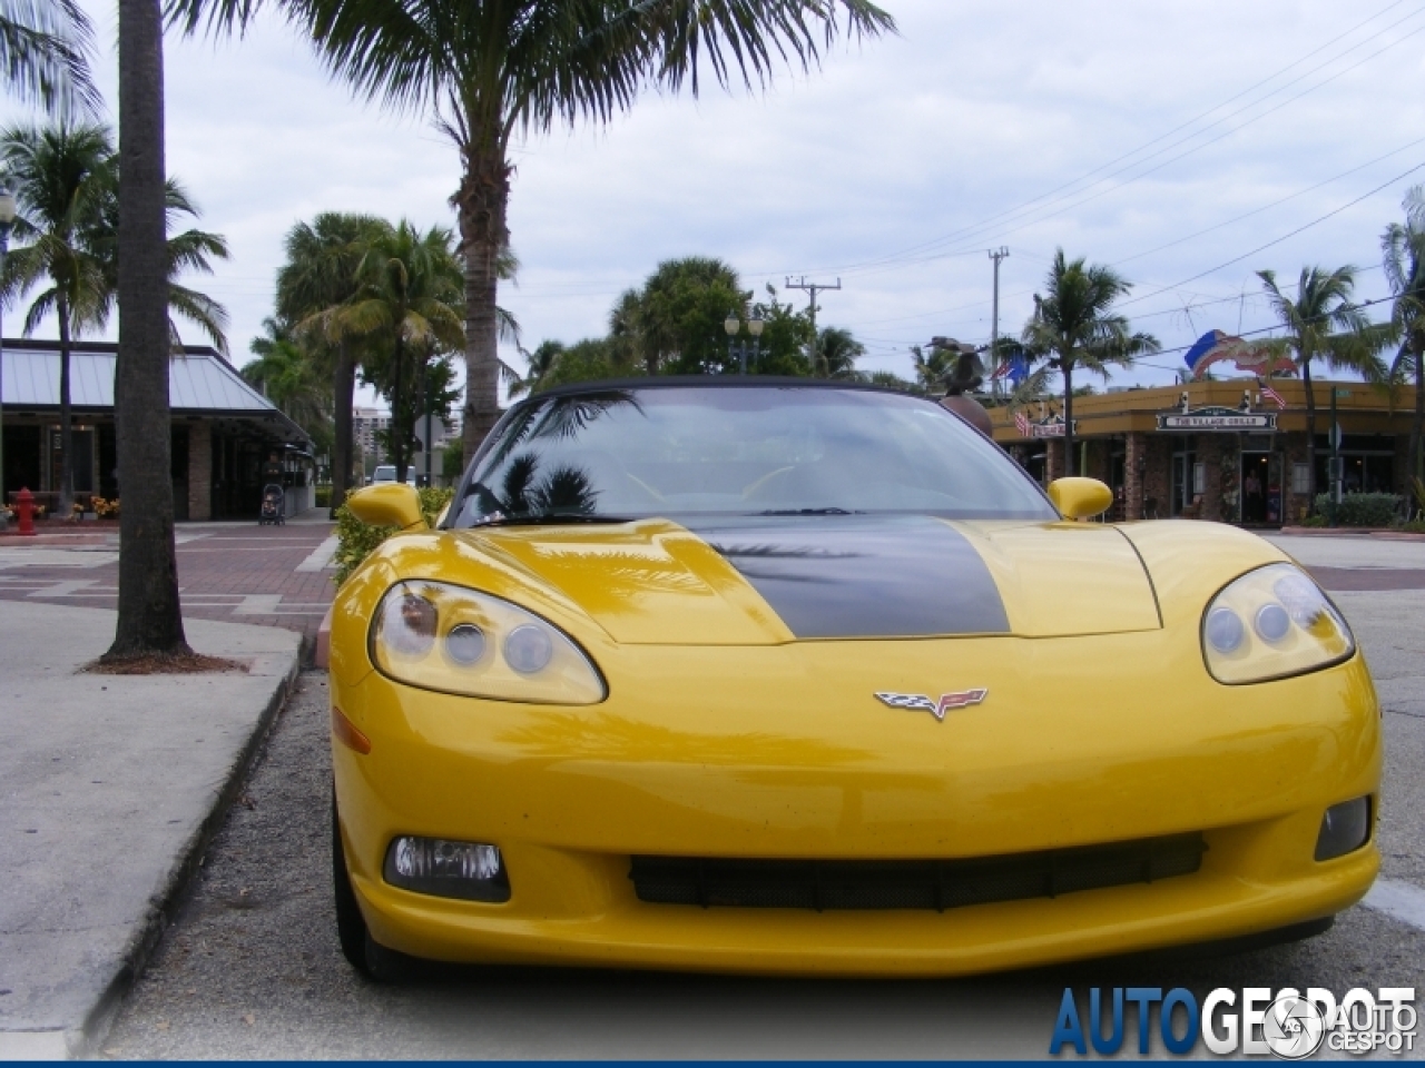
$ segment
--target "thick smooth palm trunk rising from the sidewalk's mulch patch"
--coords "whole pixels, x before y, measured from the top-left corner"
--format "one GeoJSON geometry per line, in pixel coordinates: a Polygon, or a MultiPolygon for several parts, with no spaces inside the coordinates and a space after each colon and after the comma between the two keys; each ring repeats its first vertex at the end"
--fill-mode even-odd
{"type": "Polygon", "coordinates": [[[104,659],[187,654],[170,478],[164,36],[158,0],[118,0],[118,624],[104,659]]]}

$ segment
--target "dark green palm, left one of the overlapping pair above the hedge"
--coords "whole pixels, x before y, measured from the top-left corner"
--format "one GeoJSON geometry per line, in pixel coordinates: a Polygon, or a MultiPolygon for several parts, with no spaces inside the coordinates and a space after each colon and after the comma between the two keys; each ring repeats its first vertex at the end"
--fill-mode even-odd
{"type": "MultiPolygon", "coordinates": [[[[286,262],[276,275],[276,312],[291,323],[304,323],[356,296],[356,268],[368,245],[390,231],[375,215],[322,212],[311,224],[299,222],[286,234],[286,262]]],[[[332,513],[346,500],[352,477],[352,404],[361,342],[349,332],[335,340],[322,332],[304,335],[309,349],[323,357],[333,383],[332,413],[332,513]]]]}

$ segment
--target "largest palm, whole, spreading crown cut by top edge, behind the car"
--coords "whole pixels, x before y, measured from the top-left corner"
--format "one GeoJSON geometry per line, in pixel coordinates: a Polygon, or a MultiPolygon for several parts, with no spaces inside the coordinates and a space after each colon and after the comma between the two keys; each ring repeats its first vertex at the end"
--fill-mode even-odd
{"type": "MultiPolygon", "coordinates": [[[[133,0],[137,3],[138,0],[133,0]]],[[[152,0],[145,0],[152,1],[152,0]]],[[[809,70],[841,31],[892,31],[869,0],[281,0],[331,70],[369,98],[432,108],[460,152],[469,459],[499,417],[497,259],[510,245],[510,144],[580,118],[607,122],[646,83],[698,93],[809,70]]],[[[188,30],[245,24],[259,0],[175,0],[188,30]]]]}

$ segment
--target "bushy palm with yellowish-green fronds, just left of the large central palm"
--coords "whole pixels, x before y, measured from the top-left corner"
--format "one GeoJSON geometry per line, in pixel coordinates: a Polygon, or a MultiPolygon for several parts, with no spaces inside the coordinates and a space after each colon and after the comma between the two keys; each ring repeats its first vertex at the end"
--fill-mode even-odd
{"type": "Polygon", "coordinates": [[[326,335],[369,339],[379,346],[366,376],[390,400],[390,451],[396,480],[406,478],[406,444],[413,427],[406,419],[406,392],[415,387],[425,363],[442,349],[465,347],[460,322],[462,271],[452,249],[453,235],[440,226],[420,234],[402,221],[375,236],[356,265],[356,293],[322,312],[326,335]]]}

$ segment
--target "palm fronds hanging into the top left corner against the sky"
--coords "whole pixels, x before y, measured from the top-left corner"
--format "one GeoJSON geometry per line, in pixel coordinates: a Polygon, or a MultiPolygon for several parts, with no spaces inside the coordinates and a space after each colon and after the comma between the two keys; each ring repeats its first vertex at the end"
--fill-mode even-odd
{"type": "Polygon", "coordinates": [[[23,103],[68,118],[97,115],[103,100],[90,77],[94,30],[74,0],[0,1],[0,71],[23,103]]]}

